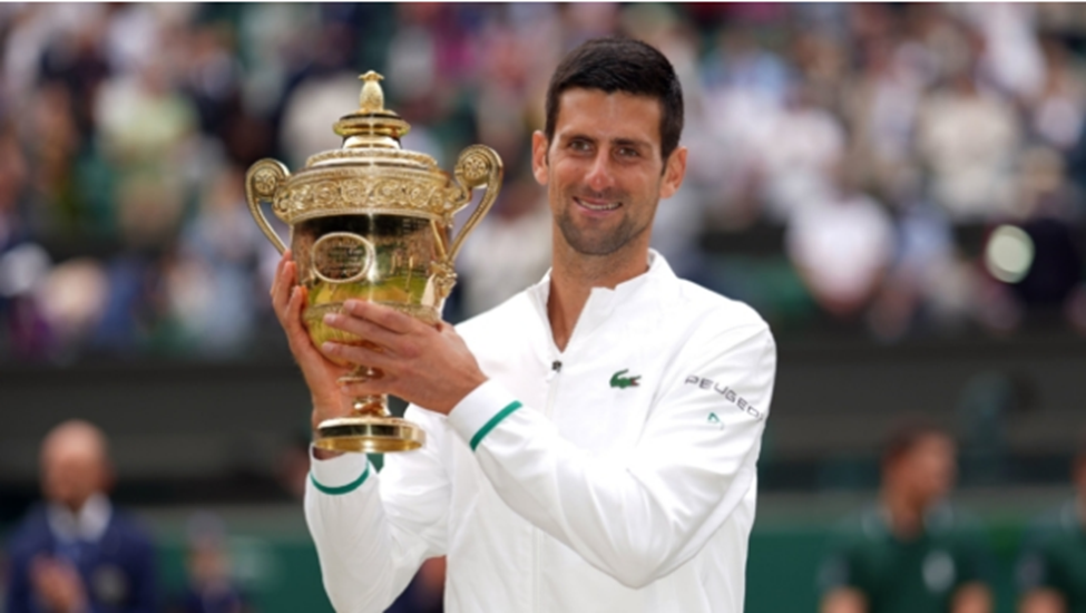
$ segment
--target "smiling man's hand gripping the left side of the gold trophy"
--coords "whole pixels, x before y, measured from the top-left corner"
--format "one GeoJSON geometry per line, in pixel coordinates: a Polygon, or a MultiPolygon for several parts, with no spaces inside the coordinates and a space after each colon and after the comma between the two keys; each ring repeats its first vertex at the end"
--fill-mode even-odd
{"type": "Polygon", "coordinates": [[[349,369],[336,366],[321,354],[310,333],[302,323],[302,310],[305,308],[306,290],[297,283],[297,264],[287,251],[280,260],[275,270],[275,281],[272,283],[272,306],[275,317],[286,332],[286,341],[291,346],[291,353],[302,369],[305,385],[313,396],[313,429],[317,424],[333,417],[344,417],[351,412],[351,399],[343,395],[336,381],[348,373],[349,369]]]}

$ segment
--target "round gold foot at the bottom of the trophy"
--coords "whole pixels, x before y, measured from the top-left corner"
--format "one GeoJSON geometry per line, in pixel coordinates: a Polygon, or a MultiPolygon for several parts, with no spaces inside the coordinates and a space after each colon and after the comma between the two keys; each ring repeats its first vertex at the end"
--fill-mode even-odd
{"type": "Polygon", "coordinates": [[[388,454],[418,449],[425,440],[425,431],[405,419],[361,416],[322,421],[313,445],[330,451],[388,454]]]}

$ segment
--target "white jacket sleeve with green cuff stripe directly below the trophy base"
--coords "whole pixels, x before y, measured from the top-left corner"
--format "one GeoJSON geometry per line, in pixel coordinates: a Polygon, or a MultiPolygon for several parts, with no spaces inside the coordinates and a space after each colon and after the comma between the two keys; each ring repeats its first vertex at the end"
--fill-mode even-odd
{"type": "Polygon", "coordinates": [[[440,428],[414,408],[405,417],[423,426],[427,444],[385,455],[380,476],[364,454],[311,460],[305,520],[340,613],[384,611],[424,560],[444,554],[450,488],[440,428]]]}

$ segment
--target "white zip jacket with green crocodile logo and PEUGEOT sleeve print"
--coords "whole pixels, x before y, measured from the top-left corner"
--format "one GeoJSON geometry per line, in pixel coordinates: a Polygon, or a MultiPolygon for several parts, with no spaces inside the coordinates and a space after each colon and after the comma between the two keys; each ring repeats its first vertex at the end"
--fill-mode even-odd
{"type": "Polygon", "coordinates": [[[749,306],[648,273],[595,289],[565,351],[549,275],[458,330],[489,381],[418,451],[312,463],[336,611],[383,611],[448,556],[446,611],[741,613],[776,350],[749,306]]]}

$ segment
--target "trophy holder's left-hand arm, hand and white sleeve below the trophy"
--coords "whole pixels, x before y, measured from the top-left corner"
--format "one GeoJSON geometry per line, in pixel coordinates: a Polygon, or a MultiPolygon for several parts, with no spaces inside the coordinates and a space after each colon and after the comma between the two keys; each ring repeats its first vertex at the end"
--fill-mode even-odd
{"type": "MultiPolygon", "coordinates": [[[[346,369],[324,358],[302,325],[305,290],[284,254],[272,286],[272,304],[286,332],[313,399],[313,427],[341,417],[350,400],[337,379],[346,369]]],[[[431,416],[432,417],[432,416],[431,416]]],[[[427,557],[444,553],[448,478],[438,460],[440,428],[428,428],[421,450],[389,458],[376,470],[362,454],[314,449],[305,490],[305,519],[316,544],[324,588],[341,613],[384,611],[427,557]]]]}

